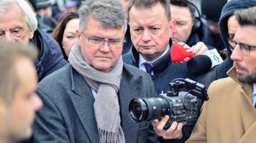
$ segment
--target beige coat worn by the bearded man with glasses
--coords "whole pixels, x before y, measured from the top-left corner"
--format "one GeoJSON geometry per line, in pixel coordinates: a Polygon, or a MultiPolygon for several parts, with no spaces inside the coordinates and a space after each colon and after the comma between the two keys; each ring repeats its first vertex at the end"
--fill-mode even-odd
{"type": "Polygon", "coordinates": [[[229,77],[213,82],[208,90],[201,115],[188,142],[256,142],[256,109],[252,105],[252,85],[237,82],[230,69],[229,77]]]}

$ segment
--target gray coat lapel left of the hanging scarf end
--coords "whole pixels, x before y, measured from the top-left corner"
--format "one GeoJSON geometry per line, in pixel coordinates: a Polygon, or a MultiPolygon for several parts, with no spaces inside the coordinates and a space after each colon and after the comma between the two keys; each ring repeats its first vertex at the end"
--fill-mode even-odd
{"type": "Polygon", "coordinates": [[[99,142],[99,133],[93,109],[94,98],[91,88],[75,69],[71,69],[71,81],[72,90],[69,91],[69,94],[76,108],[76,113],[91,142],[99,142]]]}

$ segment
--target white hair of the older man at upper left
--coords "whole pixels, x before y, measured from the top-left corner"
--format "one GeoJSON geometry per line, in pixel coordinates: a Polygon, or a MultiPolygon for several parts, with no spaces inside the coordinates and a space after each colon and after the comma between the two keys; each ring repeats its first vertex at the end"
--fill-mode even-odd
{"type": "Polygon", "coordinates": [[[24,19],[26,20],[29,29],[35,31],[37,29],[37,17],[35,12],[29,6],[25,0],[0,0],[0,16],[2,16],[6,11],[12,11],[8,9],[12,4],[16,4],[24,12],[24,19]]]}

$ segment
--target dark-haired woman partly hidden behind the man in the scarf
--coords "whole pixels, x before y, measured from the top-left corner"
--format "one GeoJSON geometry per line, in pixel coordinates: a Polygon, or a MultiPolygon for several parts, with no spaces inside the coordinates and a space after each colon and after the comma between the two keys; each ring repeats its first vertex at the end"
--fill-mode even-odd
{"type": "Polygon", "coordinates": [[[76,41],[76,31],[79,29],[79,15],[72,12],[64,17],[52,31],[52,38],[60,45],[64,59],[68,60],[71,47],[76,41]]]}

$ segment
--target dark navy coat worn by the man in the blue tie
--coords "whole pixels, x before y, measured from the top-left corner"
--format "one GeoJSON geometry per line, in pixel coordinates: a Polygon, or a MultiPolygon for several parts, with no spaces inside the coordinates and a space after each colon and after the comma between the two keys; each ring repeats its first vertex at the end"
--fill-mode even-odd
{"type": "MultiPolygon", "coordinates": [[[[170,45],[172,45],[170,39],[170,45]]],[[[123,60],[127,64],[132,64],[133,66],[139,67],[139,53],[136,51],[134,46],[132,47],[132,52],[123,55],[123,60]]],[[[173,79],[177,78],[189,78],[194,79],[194,75],[190,74],[186,68],[186,63],[175,64],[170,59],[170,49],[165,56],[153,63],[152,71],[154,76],[152,77],[155,84],[155,90],[157,94],[160,94],[162,91],[165,93],[170,90],[169,83],[173,79]]],[[[183,127],[183,138],[182,139],[168,139],[164,140],[162,137],[159,137],[160,142],[185,142],[192,132],[193,127],[183,127]]]]}

